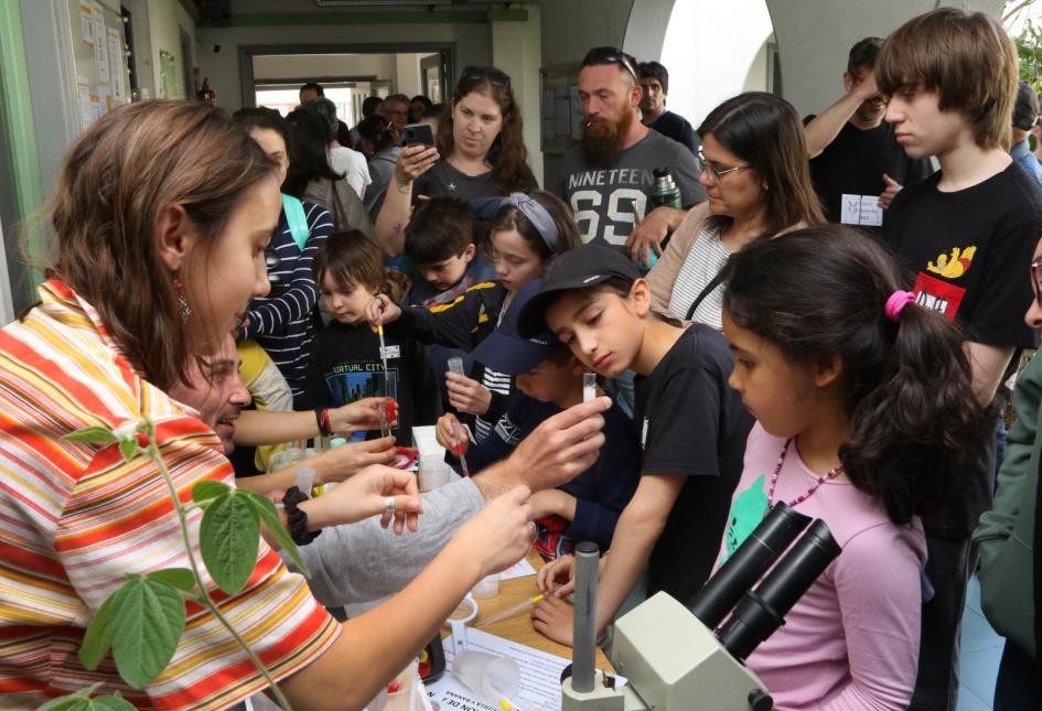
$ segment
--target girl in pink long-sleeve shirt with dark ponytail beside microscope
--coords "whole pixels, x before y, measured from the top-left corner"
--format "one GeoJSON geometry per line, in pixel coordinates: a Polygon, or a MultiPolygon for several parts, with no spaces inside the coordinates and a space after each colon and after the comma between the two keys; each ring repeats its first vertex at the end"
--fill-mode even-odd
{"type": "Polygon", "coordinates": [[[726,268],[730,385],[758,420],[722,558],[776,502],[842,552],[749,656],[776,709],[904,709],[919,658],[919,515],[985,431],[958,330],[838,226],[746,246],[726,268]]]}

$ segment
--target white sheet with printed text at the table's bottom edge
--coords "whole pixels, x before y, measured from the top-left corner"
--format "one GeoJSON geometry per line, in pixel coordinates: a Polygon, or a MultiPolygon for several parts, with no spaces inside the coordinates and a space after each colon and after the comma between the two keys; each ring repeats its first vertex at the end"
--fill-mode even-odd
{"type": "MultiPolygon", "coordinates": [[[[443,711],[451,709],[473,709],[474,711],[502,711],[479,700],[477,694],[452,676],[452,638],[442,643],[445,649],[445,674],[437,682],[427,685],[427,693],[443,711]]],[[[512,699],[517,711],[543,711],[561,708],[561,671],[570,659],[558,657],[517,644],[503,637],[490,635],[473,627],[466,631],[466,647],[479,651],[490,651],[508,657],[520,668],[520,690],[512,699]]]]}

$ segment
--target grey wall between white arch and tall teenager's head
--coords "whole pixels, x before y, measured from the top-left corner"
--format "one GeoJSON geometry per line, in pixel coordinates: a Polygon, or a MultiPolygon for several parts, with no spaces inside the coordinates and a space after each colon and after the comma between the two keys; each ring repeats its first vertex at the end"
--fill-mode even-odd
{"type": "MultiPolygon", "coordinates": [[[[850,47],[862,37],[885,37],[937,0],[766,0],[777,37],[785,98],[802,116],[817,114],[844,91],[850,47]]],[[[995,18],[1003,0],[941,0],[995,18]]]]}

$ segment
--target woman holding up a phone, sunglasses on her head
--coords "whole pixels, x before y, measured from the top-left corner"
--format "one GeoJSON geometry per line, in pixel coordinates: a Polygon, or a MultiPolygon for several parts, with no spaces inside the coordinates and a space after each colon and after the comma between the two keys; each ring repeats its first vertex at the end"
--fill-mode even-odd
{"type": "Polygon", "coordinates": [[[388,255],[405,250],[415,197],[466,201],[538,187],[509,76],[495,67],[466,67],[450,107],[438,125],[437,147],[407,146],[398,157],[376,219],[377,238],[388,255]]]}

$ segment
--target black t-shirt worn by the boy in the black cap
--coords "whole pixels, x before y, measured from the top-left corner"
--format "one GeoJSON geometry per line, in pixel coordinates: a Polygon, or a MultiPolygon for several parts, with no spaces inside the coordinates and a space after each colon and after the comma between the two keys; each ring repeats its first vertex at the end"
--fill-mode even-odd
{"type": "Polygon", "coordinates": [[[753,423],[728,385],[733,367],[723,336],[696,324],[634,384],[641,475],[687,477],[652,550],[648,595],[662,590],[687,604],[720,552],[753,423]]]}

